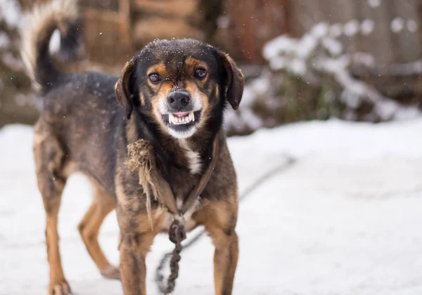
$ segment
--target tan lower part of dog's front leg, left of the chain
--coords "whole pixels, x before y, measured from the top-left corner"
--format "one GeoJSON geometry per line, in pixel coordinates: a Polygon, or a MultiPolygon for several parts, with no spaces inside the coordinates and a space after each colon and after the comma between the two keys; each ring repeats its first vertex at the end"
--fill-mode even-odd
{"type": "Polygon", "coordinates": [[[146,295],[145,258],[154,234],[122,232],[120,239],[120,272],[124,294],[146,295]]]}

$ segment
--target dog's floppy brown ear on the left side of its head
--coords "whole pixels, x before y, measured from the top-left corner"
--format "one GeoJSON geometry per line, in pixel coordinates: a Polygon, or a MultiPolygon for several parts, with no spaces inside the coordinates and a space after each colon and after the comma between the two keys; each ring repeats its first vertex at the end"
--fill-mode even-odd
{"type": "Polygon", "coordinates": [[[134,110],[134,102],[132,101],[132,91],[130,88],[130,78],[134,72],[135,63],[134,60],[129,60],[126,65],[124,65],[122,70],[122,75],[115,84],[115,93],[117,96],[117,101],[123,107],[124,112],[126,112],[126,118],[129,120],[132,111],[134,110]]]}

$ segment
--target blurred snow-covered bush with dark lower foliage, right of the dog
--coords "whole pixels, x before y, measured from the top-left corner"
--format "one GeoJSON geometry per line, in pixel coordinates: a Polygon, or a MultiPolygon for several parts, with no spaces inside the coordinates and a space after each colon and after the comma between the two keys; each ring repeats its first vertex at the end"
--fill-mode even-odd
{"type": "MultiPolygon", "coordinates": [[[[344,33],[354,34],[357,28],[359,24],[350,21],[344,33]]],[[[420,114],[416,107],[400,105],[354,78],[351,65],[373,67],[373,59],[346,53],[338,36],[334,25],[321,22],[300,39],[283,35],[269,41],[262,51],[268,69],[248,81],[240,110],[229,112],[226,127],[243,133],[301,119],[381,122],[420,114]]],[[[418,67],[420,62],[392,65],[390,70],[401,73],[418,67]]]]}

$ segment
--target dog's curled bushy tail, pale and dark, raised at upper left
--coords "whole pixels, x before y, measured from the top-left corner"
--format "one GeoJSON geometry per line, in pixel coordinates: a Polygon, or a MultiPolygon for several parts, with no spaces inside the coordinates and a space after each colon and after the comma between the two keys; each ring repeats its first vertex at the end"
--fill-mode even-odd
{"type": "Polygon", "coordinates": [[[82,53],[82,18],[77,0],[52,0],[37,4],[25,14],[25,25],[20,31],[20,54],[25,63],[32,87],[46,91],[60,77],[60,70],[53,63],[50,47],[51,35],[58,29],[60,48],[56,58],[71,60],[82,53]]]}

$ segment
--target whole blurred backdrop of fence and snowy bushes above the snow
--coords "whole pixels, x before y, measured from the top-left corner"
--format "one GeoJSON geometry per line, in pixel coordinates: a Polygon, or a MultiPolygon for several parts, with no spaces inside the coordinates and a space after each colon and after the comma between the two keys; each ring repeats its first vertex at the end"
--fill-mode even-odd
{"type": "MultiPolygon", "coordinates": [[[[0,126],[33,124],[38,116],[17,33],[34,2],[0,1],[0,126]]],[[[384,122],[420,112],[422,1],[80,3],[85,51],[70,65],[74,71],[120,74],[155,38],[192,37],[229,53],[247,79],[240,110],[226,117],[230,135],[300,120],[384,122]]]]}

